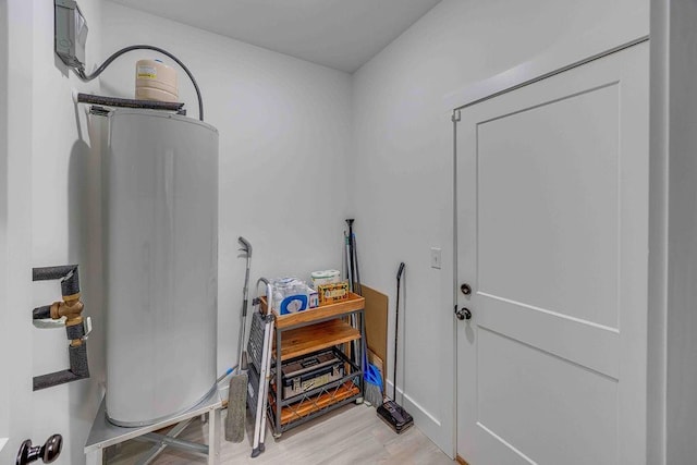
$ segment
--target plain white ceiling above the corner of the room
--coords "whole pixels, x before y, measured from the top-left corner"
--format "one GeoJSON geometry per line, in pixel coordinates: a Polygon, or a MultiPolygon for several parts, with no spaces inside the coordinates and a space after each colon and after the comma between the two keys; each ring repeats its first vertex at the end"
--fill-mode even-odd
{"type": "Polygon", "coordinates": [[[440,0],[112,0],[353,73],[440,0]]]}

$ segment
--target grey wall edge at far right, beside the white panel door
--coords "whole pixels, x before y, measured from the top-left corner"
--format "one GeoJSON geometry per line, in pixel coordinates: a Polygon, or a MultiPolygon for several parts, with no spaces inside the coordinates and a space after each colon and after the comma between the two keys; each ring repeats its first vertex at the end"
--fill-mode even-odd
{"type": "MultiPolygon", "coordinates": [[[[668,304],[665,319],[665,463],[697,456],[697,3],[663,0],[668,150],[668,304]]],[[[651,30],[653,36],[653,30],[651,30]]]]}

